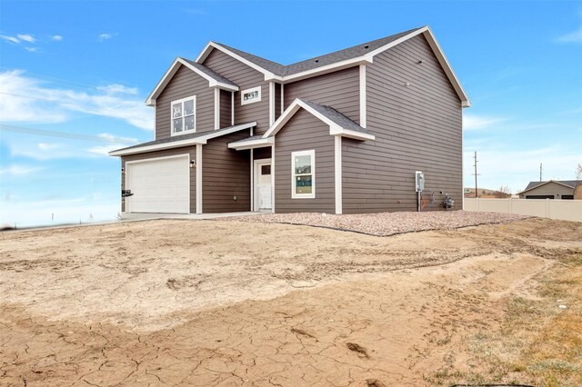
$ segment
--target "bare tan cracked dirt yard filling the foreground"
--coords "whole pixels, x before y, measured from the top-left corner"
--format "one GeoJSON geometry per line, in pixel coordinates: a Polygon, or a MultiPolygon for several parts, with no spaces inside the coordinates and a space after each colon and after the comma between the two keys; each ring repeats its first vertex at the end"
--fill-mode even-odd
{"type": "Polygon", "coordinates": [[[0,234],[1,385],[425,385],[582,248],[527,219],[374,237],[151,221],[0,234]]]}

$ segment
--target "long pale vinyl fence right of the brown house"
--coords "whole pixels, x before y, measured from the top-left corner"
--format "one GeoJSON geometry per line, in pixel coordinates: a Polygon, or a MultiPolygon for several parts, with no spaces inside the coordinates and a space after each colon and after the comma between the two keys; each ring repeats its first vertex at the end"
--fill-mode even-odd
{"type": "Polygon", "coordinates": [[[582,200],[464,198],[465,211],[518,213],[562,221],[582,222],[582,200]]]}

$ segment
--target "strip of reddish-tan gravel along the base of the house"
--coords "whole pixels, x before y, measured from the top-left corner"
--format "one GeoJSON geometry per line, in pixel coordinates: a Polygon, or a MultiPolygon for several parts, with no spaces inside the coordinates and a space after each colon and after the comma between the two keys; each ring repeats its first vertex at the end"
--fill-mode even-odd
{"type": "Polygon", "coordinates": [[[376,236],[396,233],[415,233],[427,230],[453,230],[477,224],[508,223],[528,216],[509,213],[477,213],[468,211],[435,211],[426,213],[358,213],[336,215],[329,213],[266,213],[226,217],[219,220],[232,220],[248,223],[289,223],[335,230],[366,233],[376,236]]]}

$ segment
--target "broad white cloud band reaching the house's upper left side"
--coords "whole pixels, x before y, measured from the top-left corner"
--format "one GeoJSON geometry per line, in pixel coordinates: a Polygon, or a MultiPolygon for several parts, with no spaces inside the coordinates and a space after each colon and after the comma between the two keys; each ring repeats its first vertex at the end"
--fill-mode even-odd
{"type": "Polygon", "coordinates": [[[45,87],[20,70],[0,73],[0,116],[5,122],[59,123],[72,113],[117,118],[146,130],[154,129],[153,112],[141,98],[128,97],[137,89],[121,84],[95,91],[45,87]]]}

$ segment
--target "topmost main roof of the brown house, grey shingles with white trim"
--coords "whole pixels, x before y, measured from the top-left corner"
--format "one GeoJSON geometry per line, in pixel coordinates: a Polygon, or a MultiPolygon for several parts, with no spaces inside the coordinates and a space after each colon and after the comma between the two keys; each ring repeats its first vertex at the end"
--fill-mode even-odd
{"type": "Polygon", "coordinates": [[[236,48],[229,47],[228,45],[211,41],[202,50],[200,55],[198,55],[196,63],[204,63],[206,57],[210,55],[212,50],[218,49],[226,55],[230,55],[238,61],[256,69],[256,71],[263,73],[265,75],[265,80],[276,80],[285,84],[286,82],[305,79],[317,74],[326,74],[354,65],[372,64],[374,62],[374,56],[420,34],[425,36],[428,45],[430,45],[434,54],[437,56],[439,64],[443,68],[445,74],[447,74],[449,82],[457,92],[462,105],[464,107],[470,106],[471,103],[469,102],[463,87],[458,82],[457,75],[453,71],[451,65],[449,65],[447,57],[441,50],[440,45],[438,45],[435,35],[433,35],[427,25],[420,28],[413,28],[396,35],[376,39],[361,45],[355,45],[330,54],[320,55],[292,65],[280,65],[260,56],[248,54],[236,48]]]}

